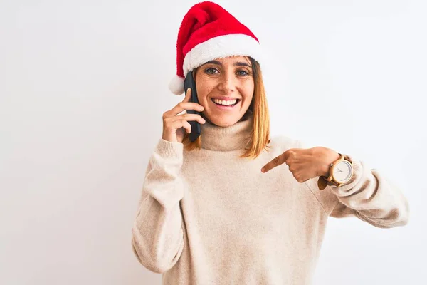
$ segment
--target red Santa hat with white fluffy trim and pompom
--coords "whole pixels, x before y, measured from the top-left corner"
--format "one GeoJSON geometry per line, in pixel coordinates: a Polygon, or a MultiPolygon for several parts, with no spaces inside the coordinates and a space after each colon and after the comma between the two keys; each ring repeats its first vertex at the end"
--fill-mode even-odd
{"type": "Polygon", "coordinates": [[[207,61],[251,56],[260,61],[258,38],[228,11],[210,1],[192,6],[184,16],[176,41],[176,76],[169,90],[184,93],[186,73],[207,61]]]}

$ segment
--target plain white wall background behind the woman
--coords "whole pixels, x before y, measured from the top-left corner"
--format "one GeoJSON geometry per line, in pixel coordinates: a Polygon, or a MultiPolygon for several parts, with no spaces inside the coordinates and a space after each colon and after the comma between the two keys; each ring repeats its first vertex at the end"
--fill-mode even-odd
{"type": "MultiPolygon", "coordinates": [[[[0,284],[161,284],[132,222],[195,1],[0,1],[0,284]]],[[[218,1],[260,39],[272,132],[401,186],[406,227],[330,219],[314,284],[421,284],[425,1],[218,1]]]]}

